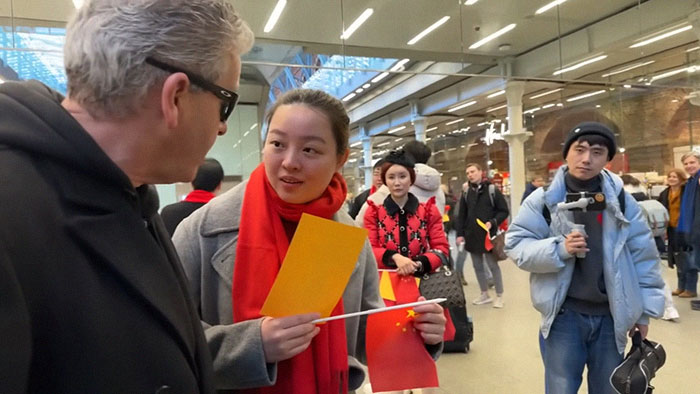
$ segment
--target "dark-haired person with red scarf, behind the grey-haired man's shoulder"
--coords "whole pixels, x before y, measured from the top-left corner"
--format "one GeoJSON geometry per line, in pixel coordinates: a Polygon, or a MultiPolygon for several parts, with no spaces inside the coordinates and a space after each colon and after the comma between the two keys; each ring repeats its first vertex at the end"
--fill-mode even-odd
{"type": "Polygon", "coordinates": [[[204,206],[216,192],[221,189],[221,181],[224,179],[224,169],[216,159],[205,159],[204,164],[197,169],[197,175],[192,181],[192,190],[183,201],[167,205],[160,212],[165,228],[172,237],[177,225],[182,219],[190,216],[192,212],[204,206]]]}

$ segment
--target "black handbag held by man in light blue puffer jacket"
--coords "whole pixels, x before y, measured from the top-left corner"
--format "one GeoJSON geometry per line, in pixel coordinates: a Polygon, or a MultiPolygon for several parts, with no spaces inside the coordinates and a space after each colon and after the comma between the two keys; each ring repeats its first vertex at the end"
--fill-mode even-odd
{"type": "Polygon", "coordinates": [[[610,375],[610,384],[618,394],[651,394],[651,379],[666,362],[663,346],[647,339],[639,331],[632,336],[632,348],[610,375]]]}

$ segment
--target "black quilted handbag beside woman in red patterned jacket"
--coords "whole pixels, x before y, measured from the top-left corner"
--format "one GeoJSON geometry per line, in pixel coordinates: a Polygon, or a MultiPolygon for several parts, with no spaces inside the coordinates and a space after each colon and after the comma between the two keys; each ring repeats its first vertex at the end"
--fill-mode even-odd
{"type": "Polygon", "coordinates": [[[425,274],[421,277],[418,290],[420,294],[428,300],[434,298],[447,298],[443,304],[446,308],[464,307],[464,289],[459,275],[452,272],[447,257],[439,250],[431,250],[440,257],[442,266],[435,272],[425,274]]]}

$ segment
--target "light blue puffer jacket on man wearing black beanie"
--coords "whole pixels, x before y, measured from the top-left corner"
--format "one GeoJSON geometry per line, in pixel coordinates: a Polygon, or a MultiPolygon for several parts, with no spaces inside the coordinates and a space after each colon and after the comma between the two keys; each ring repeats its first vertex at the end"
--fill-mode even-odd
{"type": "MultiPolygon", "coordinates": [[[[574,269],[574,256],[564,247],[564,235],[571,231],[573,214],[559,211],[557,203],[566,198],[562,166],[549,188],[535,190],[523,203],[506,233],[506,252],[530,274],[532,304],[542,314],[540,329],[546,338],[554,317],[566,298],[574,269]],[[542,215],[547,205],[552,222],[542,215]]],[[[601,172],[601,186],[607,201],[603,214],[603,272],[610,312],[615,322],[615,339],[620,353],[627,343],[627,331],[635,323],[649,324],[664,309],[664,282],[659,254],[637,202],[625,193],[625,213],[618,194],[622,180],[607,170],[601,172]]]]}

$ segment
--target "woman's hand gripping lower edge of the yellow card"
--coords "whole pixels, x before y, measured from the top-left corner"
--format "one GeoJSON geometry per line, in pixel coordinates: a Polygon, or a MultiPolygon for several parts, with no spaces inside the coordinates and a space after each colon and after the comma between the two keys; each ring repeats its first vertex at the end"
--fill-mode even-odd
{"type": "Polygon", "coordinates": [[[303,352],[320,328],[311,323],[318,319],[318,313],[306,313],[287,317],[264,317],[260,335],[262,336],[265,361],[276,363],[287,360],[303,352]]]}

